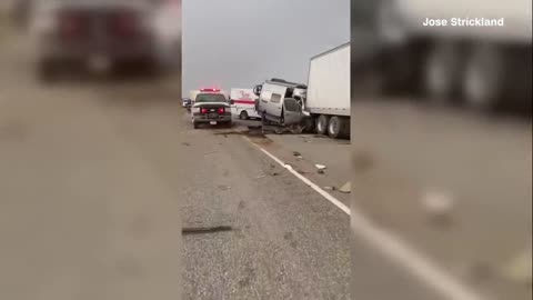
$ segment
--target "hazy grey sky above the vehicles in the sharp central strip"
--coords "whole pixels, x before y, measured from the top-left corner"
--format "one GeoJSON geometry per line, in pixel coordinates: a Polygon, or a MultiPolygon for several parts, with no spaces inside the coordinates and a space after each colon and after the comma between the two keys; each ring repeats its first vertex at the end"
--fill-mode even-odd
{"type": "Polygon", "coordinates": [[[350,0],[182,0],[183,96],[306,83],[309,59],[350,40],[350,0]]]}

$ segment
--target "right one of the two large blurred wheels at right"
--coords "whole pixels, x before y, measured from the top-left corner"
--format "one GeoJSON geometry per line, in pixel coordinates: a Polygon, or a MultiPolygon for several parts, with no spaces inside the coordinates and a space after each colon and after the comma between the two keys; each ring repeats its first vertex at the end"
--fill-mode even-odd
{"type": "Polygon", "coordinates": [[[494,108],[505,84],[505,57],[496,46],[475,46],[464,70],[463,96],[476,110],[494,108]]]}

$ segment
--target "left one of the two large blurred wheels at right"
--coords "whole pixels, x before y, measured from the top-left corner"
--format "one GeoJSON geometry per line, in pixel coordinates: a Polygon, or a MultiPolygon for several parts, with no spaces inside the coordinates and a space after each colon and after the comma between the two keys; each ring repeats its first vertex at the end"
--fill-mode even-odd
{"type": "Polygon", "coordinates": [[[434,103],[449,102],[457,94],[462,80],[462,51],[457,42],[435,43],[425,62],[424,90],[434,103]]]}

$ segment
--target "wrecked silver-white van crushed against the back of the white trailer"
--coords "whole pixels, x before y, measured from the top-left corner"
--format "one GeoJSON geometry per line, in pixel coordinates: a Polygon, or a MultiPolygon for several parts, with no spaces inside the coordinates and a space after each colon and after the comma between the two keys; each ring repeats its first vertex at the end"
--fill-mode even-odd
{"type": "Polygon", "coordinates": [[[306,90],[305,84],[282,79],[271,79],[255,86],[253,91],[259,96],[255,109],[263,123],[272,122],[281,126],[300,123],[305,116],[303,104],[306,90]]]}

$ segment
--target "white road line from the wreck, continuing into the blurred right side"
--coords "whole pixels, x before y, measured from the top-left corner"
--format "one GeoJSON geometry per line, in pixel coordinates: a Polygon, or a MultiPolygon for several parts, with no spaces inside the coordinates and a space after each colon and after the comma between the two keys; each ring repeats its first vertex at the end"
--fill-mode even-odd
{"type": "Polygon", "coordinates": [[[472,289],[465,287],[453,276],[449,274],[444,270],[440,269],[435,263],[424,257],[420,251],[410,247],[405,241],[399,237],[386,232],[375,224],[373,224],[363,213],[356,209],[350,210],[344,203],[336,198],[321,189],[319,186],[311,182],[299,172],[296,172],[290,164],[284,163],[282,160],[263,149],[261,146],[254,143],[248,137],[243,137],[252,146],[257,147],[261,152],[269,158],[278,162],[280,166],[289,170],[293,176],[302,180],[305,184],[311,187],[322,197],[332,202],[335,207],[340,208],[346,214],[351,216],[351,228],[359,236],[364,238],[366,242],[380,250],[385,257],[394,261],[396,264],[406,269],[411,274],[419,278],[422,282],[432,287],[442,297],[452,300],[484,300],[486,298],[481,297],[472,289]]]}

